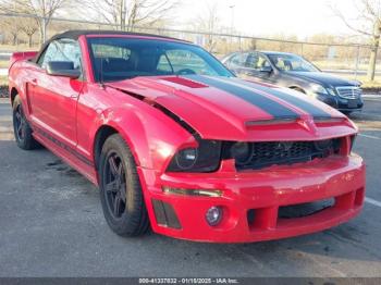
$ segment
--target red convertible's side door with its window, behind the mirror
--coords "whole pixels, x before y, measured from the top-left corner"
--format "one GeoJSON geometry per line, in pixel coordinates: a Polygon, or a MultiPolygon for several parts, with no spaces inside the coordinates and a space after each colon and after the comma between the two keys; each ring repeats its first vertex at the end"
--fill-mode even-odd
{"type": "Polygon", "coordinates": [[[46,67],[50,61],[72,61],[75,69],[82,70],[78,42],[73,39],[53,40],[37,59],[28,88],[32,123],[60,142],[75,147],[76,106],[83,78],[49,75],[46,67]]]}

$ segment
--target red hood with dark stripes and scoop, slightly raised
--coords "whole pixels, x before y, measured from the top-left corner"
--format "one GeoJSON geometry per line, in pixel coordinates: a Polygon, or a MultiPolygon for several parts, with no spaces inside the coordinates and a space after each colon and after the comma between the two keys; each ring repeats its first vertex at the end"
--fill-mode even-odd
{"type": "Polygon", "coordinates": [[[185,122],[205,139],[312,140],[356,132],[345,115],[320,101],[235,77],[136,77],[106,86],[185,122]]]}

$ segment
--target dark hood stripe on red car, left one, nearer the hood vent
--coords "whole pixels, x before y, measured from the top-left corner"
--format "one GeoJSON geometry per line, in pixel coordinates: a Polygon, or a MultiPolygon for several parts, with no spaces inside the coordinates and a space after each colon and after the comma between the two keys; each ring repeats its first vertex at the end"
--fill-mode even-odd
{"type": "Polygon", "coordinates": [[[294,112],[293,110],[290,110],[288,108],[284,107],[283,104],[271,100],[270,98],[256,94],[251,90],[248,90],[244,87],[239,87],[233,84],[229,84],[226,82],[222,82],[219,79],[213,79],[211,77],[206,76],[192,76],[190,79],[197,80],[199,83],[204,83],[206,85],[209,85],[211,87],[221,89],[223,91],[226,91],[233,96],[239,97],[241,99],[256,106],[257,108],[263,110],[265,112],[271,114],[273,117],[281,119],[281,117],[290,117],[290,119],[298,119],[300,117],[298,113],[294,112]]]}

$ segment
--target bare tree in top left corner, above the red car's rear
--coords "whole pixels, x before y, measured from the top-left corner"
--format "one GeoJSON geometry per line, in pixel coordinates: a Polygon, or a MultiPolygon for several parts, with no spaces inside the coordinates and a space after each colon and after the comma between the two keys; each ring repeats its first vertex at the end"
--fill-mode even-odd
{"type": "Polygon", "coordinates": [[[42,45],[51,17],[59,10],[69,5],[69,2],[70,0],[0,0],[0,9],[10,13],[30,15],[37,24],[42,45]]]}

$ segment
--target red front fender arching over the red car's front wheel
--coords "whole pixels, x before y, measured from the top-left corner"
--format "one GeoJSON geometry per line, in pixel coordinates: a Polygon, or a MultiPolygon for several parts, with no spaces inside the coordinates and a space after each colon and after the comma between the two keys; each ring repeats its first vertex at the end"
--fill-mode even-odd
{"type": "Polygon", "coordinates": [[[145,169],[163,170],[180,146],[194,140],[192,134],[160,111],[125,112],[113,109],[102,113],[100,124],[90,132],[95,169],[98,170],[99,154],[106,139],[119,134],[135,159],[136,165],[145,169]]]}

